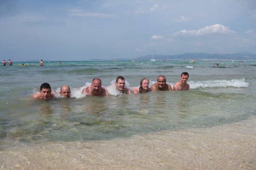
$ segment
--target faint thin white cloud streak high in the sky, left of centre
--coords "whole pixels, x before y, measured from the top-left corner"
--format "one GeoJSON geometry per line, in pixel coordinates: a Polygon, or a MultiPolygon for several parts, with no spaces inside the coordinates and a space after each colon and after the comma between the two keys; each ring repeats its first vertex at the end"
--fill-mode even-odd
{"type": "Polygon", "coordinates": [[[69,9],[69,16],[75,17],[100,17],[100,18],[107,18],[107,17],[114,17],[108,13],[98,13],[98,12],[87,12],[81,8],[73,8],[69,9]]]}

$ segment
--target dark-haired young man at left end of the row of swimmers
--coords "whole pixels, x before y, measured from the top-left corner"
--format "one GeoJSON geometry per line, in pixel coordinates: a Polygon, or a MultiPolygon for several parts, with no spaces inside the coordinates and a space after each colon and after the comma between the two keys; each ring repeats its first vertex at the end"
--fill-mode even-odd
{"type": "Polygon", "coordinates": [[[34,99],[44,99],[49,100],[53,98],[52,89],[48,83],[43,83],[40,86],[39,94],[33,95],[34,99]]]}

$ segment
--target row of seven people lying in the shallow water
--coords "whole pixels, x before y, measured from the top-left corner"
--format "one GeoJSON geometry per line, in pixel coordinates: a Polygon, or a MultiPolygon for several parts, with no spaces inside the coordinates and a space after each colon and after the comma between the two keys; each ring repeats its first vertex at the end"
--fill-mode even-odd
{"type": "MultiPolygon", "coordinates": [[[[143,78],[140,80],[140,86],[133,89],[133,93],[144,93],[150,91],[184,91],[189,90],[190,86],[187,84],[188,73],[181,73],[180,81],[174,84],[173,89],[170,84],[166,83],[166,78],[164,75],[159,75],[157,78],[157,82],[152,84],[149,87],[149,80],[143,78]]],[[[117,77],[116,83],[114,84],[114,88],[117,91],[120,91],[123,94],[131,94],[129,88],[125,87],[125,79],[122,76],[117,77]]],[[[108,95],[108,91],[105,87],[102,87],[101,80],[99,78],[95,78],[92,80],[91,86],[84,88],[81,92],[82,94],[87,94],[88,96],[106,96],[108,95]]],[[[69,98],[71,94],[70,87],[64,85],[60,88],[60,95],[64,98],[69,98]]],[[[54,97],[52,93],[52,89],[48,83],[43,83],[40,86],[39,94],[34,94],[32,96],[34,99],[44,99],[49,100],[54,97]]]]}

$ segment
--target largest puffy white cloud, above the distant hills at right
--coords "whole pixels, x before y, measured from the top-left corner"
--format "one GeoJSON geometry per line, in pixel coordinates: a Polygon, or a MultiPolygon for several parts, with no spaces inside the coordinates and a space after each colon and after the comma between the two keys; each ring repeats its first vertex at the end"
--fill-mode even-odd
{"type": "Polygon", "coordinates": [[[203,35],[216,35],[216,34],[235,34],[235,31],[230,30],[221,24],[207,26],[198,30],[181,30],[172,34],[173,36],[203,36],[203,35]]]}

